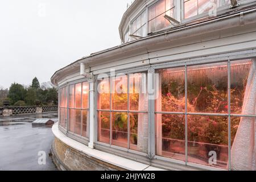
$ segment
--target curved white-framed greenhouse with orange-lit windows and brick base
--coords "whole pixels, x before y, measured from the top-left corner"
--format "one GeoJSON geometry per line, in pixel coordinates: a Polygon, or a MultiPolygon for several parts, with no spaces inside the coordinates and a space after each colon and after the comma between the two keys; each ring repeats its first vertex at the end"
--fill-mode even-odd
{"type": "Polygon", "coordinates": [[[256,2],[135,0],[122,44],[56,71],[69,170],[256,170],[256,2]]]}

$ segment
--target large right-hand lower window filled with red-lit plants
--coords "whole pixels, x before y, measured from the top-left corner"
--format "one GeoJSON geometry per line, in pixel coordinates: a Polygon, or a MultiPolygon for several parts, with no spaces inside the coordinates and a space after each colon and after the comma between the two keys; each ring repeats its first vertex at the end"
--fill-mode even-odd
{"type": "MultiPolygon", "coordinates": [[[[248,114],[245,110],[248,108],[248,87],[252,82],[252,78],[248,80],[248,77],[252,75],[252,69],[252,60],[238,60],[230,61],[230,67],[225,61],[188,66],[187,69],[158,70],[160,90],[155,104],[156,155],[185,161],[187,119],[187,162],[227,169],[229,149],[232,149],[229,148],[229,140],[231,147],[236,138],[241,141],[240,135],[244,130],[240,128],[246,127],[241,126],[241,122],[246,119],[231,117],[229,138],[228,116],[248,114]]],[[[250,114],[255,115],[255,108],[250,114]]],[[[250,125],[251,121],[255,122],[255,118],[246,121],[250,125]]],[[[239,146],[237,143],[236,147],[239,146]]],[[[232,151],[237,155],[235,150],[232,151]]]]}

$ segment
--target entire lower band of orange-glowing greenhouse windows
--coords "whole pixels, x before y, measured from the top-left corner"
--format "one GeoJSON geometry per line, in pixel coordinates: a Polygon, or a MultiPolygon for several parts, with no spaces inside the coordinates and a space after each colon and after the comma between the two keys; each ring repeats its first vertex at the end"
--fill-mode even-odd
{"type": "MultiPolygon", "coordinates": [[[[247,143],[244,137],[256,137],[245,124],[253,124],[256,117],[250,110],[256,103],[250,89],[255,63],[249,59],[156,69],[159,92],[154,108],[147,90],[154,83],[147,72],[95,81],[96,140],[109,147],[144,154],[151,148],[156,156],[229,169],[236,161],[232,156],[242,158],[238,151],[247,143]],[[155,142],[150,140],[152,123],[155,142]],[[211,163],[212,155],[216,160],[211,163]]],[[[88,82],[60,88],[59,125],[69,134],[89,138],[88,93],[88,82]]]]}

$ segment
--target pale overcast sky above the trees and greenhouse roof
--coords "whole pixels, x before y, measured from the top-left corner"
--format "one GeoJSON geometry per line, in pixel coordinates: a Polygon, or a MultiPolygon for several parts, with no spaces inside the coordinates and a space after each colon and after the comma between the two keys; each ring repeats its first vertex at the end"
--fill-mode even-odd
{"type": "Polygon", "coordinates": [[[0,6],[0,87],[49,81],[57,69],[117,46],[131,0],[7,0],[0,6]]]}

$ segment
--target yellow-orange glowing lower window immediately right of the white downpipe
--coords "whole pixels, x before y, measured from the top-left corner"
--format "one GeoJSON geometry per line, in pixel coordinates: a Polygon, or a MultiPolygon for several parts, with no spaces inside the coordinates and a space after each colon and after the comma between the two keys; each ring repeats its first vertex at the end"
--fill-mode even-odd
{"type": "Polygon", "coordinates": [[[147,153],[146,86],[146,73],[98,81],[99,142],[147,153]]]}

